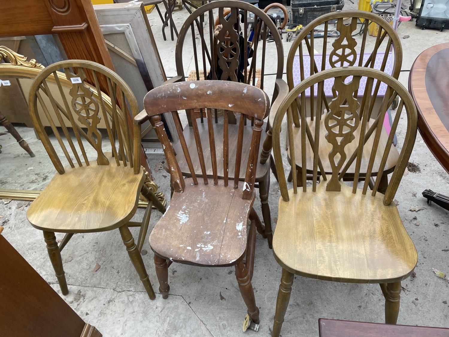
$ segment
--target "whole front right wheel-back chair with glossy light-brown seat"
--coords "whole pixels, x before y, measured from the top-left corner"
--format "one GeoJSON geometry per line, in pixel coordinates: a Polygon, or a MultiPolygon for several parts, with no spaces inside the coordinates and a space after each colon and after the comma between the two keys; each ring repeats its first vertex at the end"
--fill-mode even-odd
{"type": "MultiPolygon", "coordinates": [[[[305,131],[301,130],[302,149],[307,138],[305,131]]],[[[273,336],[279,336],[281,331],[295,274],[335,282],[379,283],[385,297],[385,321],[396,324],[401,280],[413,272],[418,256],[392,200],[413,149],[416,132],[417,113],[407,89],[393,77],[373,69],[351,67],[321,71],[298,84],[282,102],[273,125],[273,152],[282,195],[273,237],[273,254],[282,266],[273,336]],[[367,84],[363,92],[360,92],[360,81],[363,78],[367,80],[367,84]],[[317,84],[320,93],[325,81],[334,79],[333,97],[328,102],[330,111],[321,115],[324,109],[321,94],[314,105],[316,120],[321,119],[323,122],[316,123],[313,130],[313,184],[306,186],[306,174],[302,171],[303,191],[298,191],[296,168],[292,164],[293,188],[287,190],[281,156],[282,119],[287,114],[291,163],[295,163],[298,156],[302,167],[307,167],[306,153],[296,152],[292,137],[292,105],[299,95],[301,124],[304,125],[305,90],[317,84]],[[379,115],[396,96],[400,98],[392,131],[385,143],[381,142],[382,119],[368,124],[367,115],[373,99],[373,85],[379,82],[387,91],[379,108],[379,115]],[[404,108],[406,119],[402,123],[406,123],[405,138],[387,191],[383,195],[376,192],[404,108]],[[320,139],[321,125],[326,129],[324,141],[320,139]],[[370,145],[367,138],[371,134],[374,134],[374,140],[370,145]],[[351,143],[354,145],[350,148],[351,143]],[[322,155],[320,148],[326,149],[326,155],[322,155]],[[371,155],[365,157],[365,151],[369,151],[371,155]],[[379,174],[372,191],[368,192],[368,182],[378,153],[382,154],[378,163],[379,174]],[[368,161],[365,163],[366,179],[363,187],[358,188],[358,177],[364,160],[368,161]],[[318,168],[324,166],[325,161],[329,162],[332,172],[330,176],[320,173],[318,177],[318,168]],[[351,187],[341,182],[341,179],[352,163],[356,169],[351,187]]]]}

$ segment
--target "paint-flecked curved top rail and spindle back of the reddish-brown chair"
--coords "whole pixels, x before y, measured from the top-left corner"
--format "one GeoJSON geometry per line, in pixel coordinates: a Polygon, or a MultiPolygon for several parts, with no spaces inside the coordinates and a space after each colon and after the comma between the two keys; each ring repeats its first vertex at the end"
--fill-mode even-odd
{"type": "Polygon", "coordinates": [[[150,118],[158,138],[162,143],[165,157],[167,158],[174,191],[182,192],[185,188],[184,178],[179,164],[176,161],[172,146],[168,141],[167,133],[161,121],[161,113],[164,113],[164,111],[172,111],[182,151],[189,166],[194,185],[198,185],[198,179],[191,160],[193,155],[198,155],[203,181],[207,185],[208,178],[205,164],[205,157],[207,158],[207,156],[203,153],[203,146],[207,146],[207,144],[201,143],[197,120],[192,116],[192,127],[194,129],[197,151],[196,153],[189,153],[189,148],[187,147],[182,132],[178,110],[185,109],[192,115],[193,109],[195,108],[202,108],[207,111],[206,119],[209,130],[208,145],[210,147],[210,152],[208,153],[210,153],[214,185],[218,184],[217,160],[222,160],[225,186],[228,186],[229,170],[234,169],[234,172],[237,173],[236,175],[231,175],[232,177],[237,177],[234,179],[234,189],[238,188],[240,166],[242,160],[245,159],[242,158],[243,128],[247,116],[251,117],[254,120],[254,126],[242,194],[243,199],[251,199],[254,190],[257,157],[259,154],[260,133],[262,131],[263,119],[269,113],[269,105],[267,94],[248,84],[217,80],[180,82],[165,84],[147,93],[144,98],[145,111],[142,111],[135,120],[138,123],[143,123],[150,118]],[[214,135],[212,108],[225,110],[222,140],[216,139],[214,135]],[[236,136],[238,140],[235,152],[235,165],[233,168],[229,167],[229,156],[231,155],[229,153],[229,111],[240,114],[238,134],[236,136]],[[218,142],[223,142],[222,153],[217,153],[216,143],[218,142]]]}

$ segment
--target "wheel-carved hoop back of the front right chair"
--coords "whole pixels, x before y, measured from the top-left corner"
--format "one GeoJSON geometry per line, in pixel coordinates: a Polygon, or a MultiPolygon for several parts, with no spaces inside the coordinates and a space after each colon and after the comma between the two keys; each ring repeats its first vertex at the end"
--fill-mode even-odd
{"type": "MultiPolygon", "coordinates": [[[[273,125],[274,159],[279,178],[281,195],[284,201],[288,201],[289,197],[281,157],[280,133],[282,119],[286,114],[294,193],[297,192],[295,156],[300,155],[302,167],[307,167],[305,153],[305,145],[307,141],[310,143],[313,151],[313,191],[316,191],[318,171],[320,172],[322,180],[326,181],[321,182],[326,184],[326,191],[340,191],[340,180],[343,178],[343,175],[346,173],[348,168],[355,161],[356,168],[354,173],[352,193],[356,193],[357,183],[360,177],[361,160],[364,146],[368,139],[370,139],[370,137],[374,137],[367,165],[368,168],[365,174],[365,181],[361,190],[363,194],[366,194],[372,174],[374,160],[376,158],[376,153],[378,151],[382,151],[382,160],[379,164],[379,170],[374,181],[374,188],[372,191],[372,195],[376,195],[376,191],[379,187],[380,179],[387,162],[387,157],[392,146],[392,141],[396,133],[397,126],[400,120],[401,123],[407,123],[404,142],[402,144],[402,147],[398,146],[398,151],[400,151],[398,163],[396,164],[396,167],[392,173],[392,177],[388,184],[387,191],[383,200],[383,203],[385,205],[391,203],[394,195],[396,194],[397,187],[401,182],[401,177],[407,166],[417,132],[416,108],[407,89],[405,89],[401,83],[395,80],[392,76],[383,73],[382,71],[365,67],[343,67],[318,72],[317,74],[308,77],[306,80],[298,84],[293,90],[291,90],[291,92],[279,107],[276,117],[274,118],[273,125]],[[364,89],[360,89],[362,80],[366,80],[364,89]],[[330,102],[327,102],[327,99],[323,97],[322,88],[325,83],[327,85],[330,85],[329,81],[333,82],[333,97],[330,98],[330,102]],[[378,111],[377,117],[370,120],[371,114],[373,113],[372,108],[370,108],[370,102],[376,99],[376,95],[375,93],[373,93],[373,88],[376,87],[377,84],[385,88],[386,94],[383,97],[383,101],[378,111]],[[331,144],[331,150],[329,152],[328,158],[320,158],[319,156],[320,146],[326,146],[326,144],[320,143],[319,135],[321,123],[316,122],[315,130],[311,130],[308,127],[306,120],[305,92],[306,90],[311,90],[313,87],[317,89],[317,96],[311,96],[310,98],[311,111],[315,115],[317,121],[324,118],[323,125],[327,131],[325,138],[326,141],[331,144]],[[298,100],[298,96],[300,97],[300,100],[298,100]],[[385,112],[387,111],[387,107],[391,105],[392,101],[396,97],[400,99],[399,106],[397,108],[396,114],[394,114],[387,142],[384,144],[384,149],[382,149],[379,146],[379,139],[383,130],[385,112]],[[316,101],[315,109],[312,109],[313,101],[316,101]],[[327,108],[325,108],[323,102],[328,103],[326,105],[327,108]],[[301,148],[303,149],[303,151],[302,153],[298,154],[295,153],[295,143],[292,130],[292,124],[294,124],[292,122],[292,111],[293,108],[296,108],[297,106],[299,106],[301,115],[300,123],[301,125],[306,126],[301,128],[301,148]],[[401,120],[403,110],[405,110],[406,119],[401,120]],[[358,135],[357,137],[356,134],[358,135]],[[356,150],[354,150],[352,153],[347,153],[347,151],[345,151],[345,146],[347,146],[351,142],[357,142],[356,150]],[[344,164],[347,159],[348,161],[346,162],[346,164],[344,164]],[[329,160],[330,167],[332,168],[330,177],[326,177],[326,173],[323,169],[322,161],[324,160],[329,160]]],[[[307,191],[306,174],[306,170],[303,169],[301,178],[303,182],[304,192],[307,191]]]]}

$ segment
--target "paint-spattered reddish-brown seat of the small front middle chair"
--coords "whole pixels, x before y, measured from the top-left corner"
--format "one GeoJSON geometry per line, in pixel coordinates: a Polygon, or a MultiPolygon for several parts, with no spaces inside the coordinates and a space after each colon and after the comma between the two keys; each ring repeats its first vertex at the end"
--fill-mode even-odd
{"type": "Polygon", "coordinates": [[[171,261],[198,266],[231,266],[247,248],[247,218],[251,200],[222,180],[214,186],[185,179],[183,193],[173,194],[170,206],[150,234],[154,253],[171,261]]]}

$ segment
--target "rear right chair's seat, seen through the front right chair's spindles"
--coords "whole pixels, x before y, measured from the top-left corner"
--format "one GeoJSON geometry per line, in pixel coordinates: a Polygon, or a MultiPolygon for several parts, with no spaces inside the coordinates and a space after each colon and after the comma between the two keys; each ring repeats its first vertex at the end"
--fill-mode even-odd
{"type": "MultiPolygon", "coordinates": [[[[314,120],[310,120],[310,117],[307,118],[307,123],[308,126],[311,130],[312,133],[314,133],[315,131],[315,121],[314,120]]],[[[371,119],[367,125],[366,125],[366,130],[368,130],[370,128],[370,126],[373,124],[374,119],[371,119]]],[[[330,144],[327,140],[326,140],[326,133],[327,130],[324,126],[324,117],[321,118],[321,125],[320,125],[320,146],[319,146],[319,154],[320,154],[320,158],[321,158],[321,162],[323,164],[323,168],[326,171],[326,174],[331,174],[332,173],[332,168],[330,167],[330,161],[329,161],[329,152],[332,150],[332,144],[330,144]]],[[[295,142],[295,161],[296,161],[296,165],[298,167],[301,167],[301,129],[300,128],[295,128],[293,127],[293,135],[294,135],[294,142],[295,142]]],[[[357,151],[357,146],[359,144],[359,137],[360,137],[360,127],[354,131],[354,136],[355,139],[354,141],[352,141],[351,143],[349,143],[346,147],[345,147],[345,153],[347,155],[347,158],[343,164],[343,167],[346,165],[347,161],[349,160],[350,156],[352,155],[352,153],[354,151],[357,151]]],[[[373,164],[373,169],[372,169],[372,176],[376,176],[377,172],[379,171],[379,164],[382,161],[382,155],[383,155],[383,149],[385,148],[385,145],[387,144],[387,138],[388,135],[385,132],[385,129],[382,128],[382,133],[380,135],[379,138],[379,146],[378,146],[378,151],[376,152],[376,157],[374,159],[374,164],[373,164]]],[[[371,135],[371,137],[368,139],[368,141],[366,142],[365,146],[363,147],[363,155],[362,155],[362,160],[361,160],[361,167],[360,167],[360,177],[365,177],[365,173],[367,171],[368,168],[368,163],[370,160],[370,155],[371,155],[371,149],[373,146],[373,141],[374,141],[374,134],[371,135]]],[[[308,173],[313,173],[313,151],[312,151],[312,147],[310,146],[310,143],[308,141],[306,141],[306,162],[307,162],[307,171],[308,173]]],[[[385,168],[384,168],[384,173],[385,174],[389,174],[393,171],[394,167],[397,164],[397,160],[399,158],[399,152],[397,151],[396,147],[393,146],[393,144],[391,145],[390,148],[390,153],[388,154],[388,158],[387,158],[387,163],[385,164],[385,168]]],[[[290,160],[290,151],[288,151],[288,159],[290,160]]],[[[348,168],[348,171],[346,172],[345,176],[347,177],[353,177],[354,176],[354,171],[356,168],[356,160],[354,160],[352,162],[352,165],[348,168]]],[[[319,168],[318,168],[319,171],[319,168]]]]}

